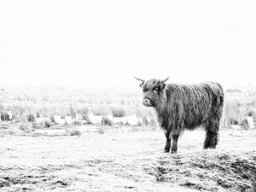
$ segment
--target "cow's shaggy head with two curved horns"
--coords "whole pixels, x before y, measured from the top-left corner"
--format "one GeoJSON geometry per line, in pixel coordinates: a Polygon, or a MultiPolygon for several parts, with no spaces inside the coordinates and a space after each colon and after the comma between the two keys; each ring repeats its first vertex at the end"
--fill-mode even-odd
{"type": "Polygon", "coordinates": [[[166,87],[165,82],[169,79],[169,77],[164,80],[149,79],[145,81],[143,79],[135,79],[142,82],[140,87],[143,88],[143,105],[146,107],[156,107],[157,103],[160,102],[160,98],[163,95],[163,91],[166,87]]]}

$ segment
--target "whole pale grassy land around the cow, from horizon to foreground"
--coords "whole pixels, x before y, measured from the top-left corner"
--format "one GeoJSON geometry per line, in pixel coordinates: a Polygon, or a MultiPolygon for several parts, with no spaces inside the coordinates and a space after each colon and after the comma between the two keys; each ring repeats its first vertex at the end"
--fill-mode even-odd
{"type": "Polygon", "coordinates": [[[141,99],[137,91],[1,90],[0,191],[256,191],[256,129],[247,125],[255,92],[226,92],[216,150],[202,149],[199,129],[184,133],[177,154],[162,153],[164,134],[141,99]],[[90,113],[102,120],[91,124],[90,113]],[[86,120],[52,120],[79,114],[86,120]],[[141,121],[113,123],[109,114],[141,121]]]}

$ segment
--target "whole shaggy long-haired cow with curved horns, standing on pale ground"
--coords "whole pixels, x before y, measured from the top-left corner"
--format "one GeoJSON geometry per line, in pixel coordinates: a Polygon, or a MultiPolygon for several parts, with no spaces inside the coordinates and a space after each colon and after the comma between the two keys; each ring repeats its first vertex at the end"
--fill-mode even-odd
{"type": "Polygon", "coordinates": [[[172,154],[177,153],[180,134],[200,125],[207,131],[203,148],[216,148],[224,105],[222,86],[213,82],[166,84],[167,79],[137,79],[142,81],[143,105],[155,109],[160,127],[165,131],[164,152],[168,153],[171,148],[172,154]]]}

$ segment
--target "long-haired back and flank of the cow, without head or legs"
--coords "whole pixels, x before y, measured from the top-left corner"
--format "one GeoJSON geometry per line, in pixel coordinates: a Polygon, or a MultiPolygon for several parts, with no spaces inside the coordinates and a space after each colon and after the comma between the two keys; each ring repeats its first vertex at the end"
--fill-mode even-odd
{"type": "Polygon", "coordinates": [[[221,102],[224,92],[220,84],[213,82],[167,84],[166,96],[170,120],[176,120],[187,129],[195,129],[207,122],[207,118],[212,115],[212,107],[216,108],[221,102]]]}

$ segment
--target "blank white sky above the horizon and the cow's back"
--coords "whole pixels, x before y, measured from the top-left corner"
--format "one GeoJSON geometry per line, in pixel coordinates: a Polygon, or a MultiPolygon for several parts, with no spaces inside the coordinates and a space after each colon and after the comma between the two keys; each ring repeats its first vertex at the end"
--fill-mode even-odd
{"type": "Polygon", "coordinates": [[[0,86],[256,85],[255,1],[1,1],[0,86]]]}

